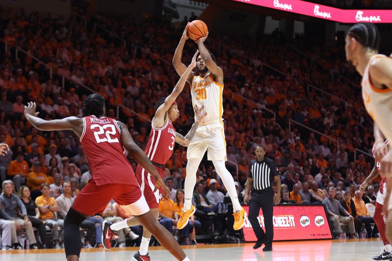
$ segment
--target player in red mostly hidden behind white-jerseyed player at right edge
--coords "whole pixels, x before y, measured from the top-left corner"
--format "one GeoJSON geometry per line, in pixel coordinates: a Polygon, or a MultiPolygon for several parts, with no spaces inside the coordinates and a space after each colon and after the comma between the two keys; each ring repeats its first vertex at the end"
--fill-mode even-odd
{"type": "MultiPolygon", "coordinates": [[[[380,149],[384,149],[385,146],[388,145],[388,140],[386,140],[384,142],[384,145],[379,146],[380,149]]],[[[373,170],[370,172],[370,174],[368,175],[368,177],[365,179],[365,181],[361,184],[361,186],[359,187],[360,190],[365,192],[366,187],[368,187],[368,184],[370,181],[372,181],[373,179],[375,179],[380,173],[380,168],[381,168],[381,164],[378,160],[378,157],[376,157],[376,150],[377,150],[377,142],[374,142],[373,148],[372,148],[372,153],[373,153],[373,157],[374,157],[374,167],[373,170]]],[[[384,154],[384,152],[381,152],[382,154],[384,154]]],[[[380,190],[377,193],[377,199],[376,199],[376,210],[374,212],[374,222],[377,225],[378,231],[380,232],[380,236],[383,239],[383,243],[384,243],[384,251],[383,253],[381,253],[378,256],[373,257],[373,260],[390,260],[392,258],[392,247],[391,247],[391,243],[389,242],[389,240],[386,237],[385,231],[385,224],[387,219],[384,218],[383,214],[382,214],[382,209],[385,203],[385,196],[387,193],[387,178],[386,177],[382,177],[381,178],[381,184],[380,184],[380,190]]]]}

